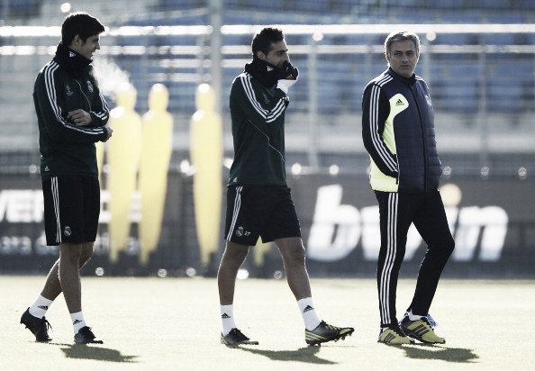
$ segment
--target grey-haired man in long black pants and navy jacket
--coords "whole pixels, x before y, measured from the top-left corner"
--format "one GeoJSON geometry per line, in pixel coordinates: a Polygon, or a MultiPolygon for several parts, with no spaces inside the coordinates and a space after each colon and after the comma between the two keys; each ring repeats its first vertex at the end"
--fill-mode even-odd
{"type": "Polygon", "coordinates": [[[380,213],[378,341],[413,342],[408,335],[425,343],[444,343],[427,315],[455,242],[438,189],[441,167],[431,95],[422,78],[414,75],[420,39],[412,32],[391,33],[385,41],[385,57],[389,68],[368,83],[362,100],[362,138],[371,158],[370,185],[380,213]],[[412,223],[428,248],[413,301],[398,323],[397,278],[412,223]]]}

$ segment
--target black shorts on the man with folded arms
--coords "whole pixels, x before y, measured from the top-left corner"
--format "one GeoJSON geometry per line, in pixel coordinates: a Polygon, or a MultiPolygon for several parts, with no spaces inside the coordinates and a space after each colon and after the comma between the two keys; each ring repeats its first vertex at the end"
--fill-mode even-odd
{"type": "Polygon", "coordinates": [[[100,214],[100,186],[93,176],[54,176],[42,181],[48,246],[94,242],[100,214]]]}

